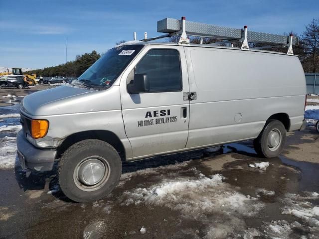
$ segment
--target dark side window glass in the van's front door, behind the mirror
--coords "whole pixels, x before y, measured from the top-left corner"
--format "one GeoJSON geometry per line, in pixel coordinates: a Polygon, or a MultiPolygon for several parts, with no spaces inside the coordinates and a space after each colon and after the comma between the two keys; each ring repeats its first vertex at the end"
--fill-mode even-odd
{"type": "Polygon", "coordinates": [[[135,68],[136,74],[146,74],[149,92],[181,91],[179,52],[175,49],[152,49],[135,68]]]}

